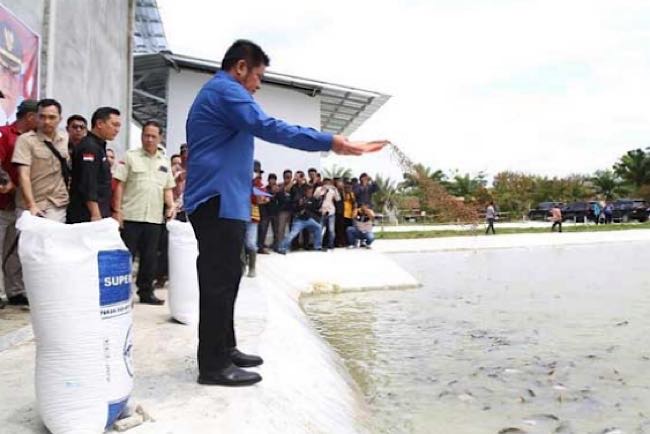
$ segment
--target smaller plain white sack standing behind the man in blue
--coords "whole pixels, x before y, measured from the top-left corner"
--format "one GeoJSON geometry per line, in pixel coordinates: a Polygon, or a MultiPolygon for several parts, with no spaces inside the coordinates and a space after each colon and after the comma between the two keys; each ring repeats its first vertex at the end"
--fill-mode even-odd
{"type": "Polygon", "coordinates": [[[183,324],[199,321],[199,280],[196,258],[199,250],[190,223],[172,220],[169,231],[169,311],[183,324]]]}

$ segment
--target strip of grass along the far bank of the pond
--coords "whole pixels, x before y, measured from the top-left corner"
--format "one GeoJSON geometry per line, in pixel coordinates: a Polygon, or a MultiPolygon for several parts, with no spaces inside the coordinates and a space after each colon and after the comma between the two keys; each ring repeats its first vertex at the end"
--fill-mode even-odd
{"type": "MultiPolygon", "coordinates": [[[[486,226],[479,225],[476,230],[431,230],[431,231],[407,231],[407,232],[381,232],[375,230],[375,238],[379,240],[412,240],[418,238],[446,238],[446,237],[471,237],[484,235],[486,226]]],[[[551,224],[548,228],[499,228],[495,225],[496,236],[505,234],[541,234],[550,233],[551,224]]],[[[612,232],[626,231],[631,229],[650,229],[650,222],[646,223],[613,223],[609,225],[585,225],[565,223],[562,225],[564,232],[612,232]]],[[[492,236],[492,234],[490,234],[492,236]]]]}

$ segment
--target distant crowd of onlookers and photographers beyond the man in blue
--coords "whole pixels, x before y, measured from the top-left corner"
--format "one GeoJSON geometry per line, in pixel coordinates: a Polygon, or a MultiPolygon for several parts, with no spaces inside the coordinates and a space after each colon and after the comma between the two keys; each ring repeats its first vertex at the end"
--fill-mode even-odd
{"type": "Polygon", "coordinates": [[[249,277],[255,276],[258,253],[370,248],[374,241],[372,195],[377,185],[366,173],[359,178],[327,178],[315,168],[306,175],[286,169],[279,180],[275,173],[264,178],[255,161],[253,187],[246,228],[249,277]]]}

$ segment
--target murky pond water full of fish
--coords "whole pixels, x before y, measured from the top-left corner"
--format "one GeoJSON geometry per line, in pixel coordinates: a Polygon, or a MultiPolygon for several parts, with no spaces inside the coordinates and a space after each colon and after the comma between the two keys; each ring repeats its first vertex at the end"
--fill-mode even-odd
{"type": "Polygon", "coordinates": [[[422,287],[303,307],[375,432],[650,433],[647,247],[396,254],[422,287]]]}

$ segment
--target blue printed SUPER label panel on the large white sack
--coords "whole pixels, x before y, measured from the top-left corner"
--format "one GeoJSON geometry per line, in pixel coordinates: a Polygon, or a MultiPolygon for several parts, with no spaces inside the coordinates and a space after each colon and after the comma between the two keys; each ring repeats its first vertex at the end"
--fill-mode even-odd
{"type": "Polygon", "coordinates": [[[105,250],[97,254],[99,303],[122,303],[131,296],[131,255],[126,250],[105,250]]]}

